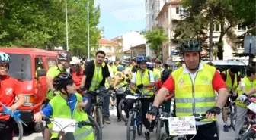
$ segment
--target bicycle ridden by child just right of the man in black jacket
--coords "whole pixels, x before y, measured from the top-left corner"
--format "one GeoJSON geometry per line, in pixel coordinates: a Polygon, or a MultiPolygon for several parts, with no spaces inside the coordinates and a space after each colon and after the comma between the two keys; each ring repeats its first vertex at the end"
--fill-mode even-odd
{"type": "Polygon", "coordinates": [[[128,119],[127,117],[129,117],[129,114],[127,114],[127,112],[125,112],[126,117],[123,116],[123,107],[125,105],[125,101],[126,101],[126,95],[131,95],[130,94],[130,84],[126,84],[120,87],[120,89],[117,89],[117,94],[118,95],[122,95],[122,99],[120,100],[119,104],[118,104],[118,113],[120,114],[121,119],[127,123],[128,119]],[[126,87],[126,91],[125,92],[119,92],[120,89],[122,89],[123,87],[126,87]]]}

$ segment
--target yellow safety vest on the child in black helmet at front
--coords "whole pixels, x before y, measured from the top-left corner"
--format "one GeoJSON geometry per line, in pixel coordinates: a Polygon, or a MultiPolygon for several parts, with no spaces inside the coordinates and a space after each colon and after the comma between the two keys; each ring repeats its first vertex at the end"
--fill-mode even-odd
{"type": "MultiPolygon", "coordinates": [[[[82,96],[80,94],[75,94],[77,97],[77,102],[75,104],[75,110],[72,114],[69,106],[66,104],[66,99],[62,98],[61,95],[56,95],[51,101],[50,105],[53,107],[53,119],[55,117],[75,119],[76,121],[89,121],[87,114],[84,110],[76,109],[78,102],[82,101],[82,96]]],[[[84,126],[82,128],[75,128],[74,136],[76,140],[94,140],[94,129],[91,126],[84,126]]],[[[52,132],[52,138],[57,138],[58,133],[52,132]]]]}

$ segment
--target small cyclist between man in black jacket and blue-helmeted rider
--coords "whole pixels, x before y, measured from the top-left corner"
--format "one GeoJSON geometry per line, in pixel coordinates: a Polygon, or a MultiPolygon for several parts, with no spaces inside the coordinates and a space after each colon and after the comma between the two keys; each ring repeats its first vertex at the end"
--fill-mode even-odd
{"type": "MultiPolygon", "coordinates": [[[[118,93],[122,92],[124,93],[126,91],[125,87],[122,87],[123,85],[126,85],[126,76],[125,76],[125,67],[123,66],[118,66],[117,67],[117,74],[114,79],[114,88],[117,90],[117,105],[120,103],[122,96],[123,95],[118,95],[118,93]]],[[[121,121],[120,114],[118,112],[118,107],[117,107],[117,122],[121,121]]]]}

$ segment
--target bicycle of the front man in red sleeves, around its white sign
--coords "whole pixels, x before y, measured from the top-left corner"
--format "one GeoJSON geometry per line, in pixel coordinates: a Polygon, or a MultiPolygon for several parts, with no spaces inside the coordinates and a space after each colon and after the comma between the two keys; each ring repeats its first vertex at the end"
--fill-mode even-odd
{"type": "MultiPolygon", "coordinates": [[[[200,120],[206,119],[206,114],[194,114],[193,116],[194,116],[194,120],[197,122],[199,122],[200,120]]],[[[158,119],[159,120],[168,120],[169,118],[173,118],[173,117],[171,117],[171,114],[163,112],[161,117],[158,119]]],[[[179,118],[182,118],[182,117],[179,117],[179,118]]],[[[196,132],[197,132],[197,126],[196,126],[196,132]]],[[[194,136],[190,139],[193,139],[194,136]]],[[[186,138],[186,135],[169,135],[167,133],[163,133],[161,135],[160,140],[172,140],[174,138],[178,138],[178,140],[190,140],[190,139],[186,138]]]]}

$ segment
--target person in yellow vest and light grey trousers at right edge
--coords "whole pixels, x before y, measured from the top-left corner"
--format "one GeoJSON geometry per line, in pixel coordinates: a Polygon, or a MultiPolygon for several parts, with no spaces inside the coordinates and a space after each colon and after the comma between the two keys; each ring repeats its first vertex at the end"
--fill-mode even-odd
{"type": "Polygon", "coordinates": [[[238,86],[238,99],[235,101],[237,107],[237,118],[235,119],[235,140],[240,138],[240,129],[242,128],[247,114],[247,105],[244,104],[245,99],[249,97],[246,93],[256,86],[256,67],[248,67],[246,76],[238,86]]]}

